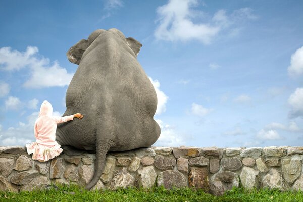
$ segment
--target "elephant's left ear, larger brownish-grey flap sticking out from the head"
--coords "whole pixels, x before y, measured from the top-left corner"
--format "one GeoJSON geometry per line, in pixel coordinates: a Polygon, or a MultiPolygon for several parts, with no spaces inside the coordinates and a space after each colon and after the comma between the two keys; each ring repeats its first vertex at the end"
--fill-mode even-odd
{"type": "Polygon", "coordinates": [[[66,53],[68,60],[71,63],[79,65],[82,55],[89,45],[90,43],[88,42],[88,40],[80,40],[78,43],[73,45],[66,53]]]}

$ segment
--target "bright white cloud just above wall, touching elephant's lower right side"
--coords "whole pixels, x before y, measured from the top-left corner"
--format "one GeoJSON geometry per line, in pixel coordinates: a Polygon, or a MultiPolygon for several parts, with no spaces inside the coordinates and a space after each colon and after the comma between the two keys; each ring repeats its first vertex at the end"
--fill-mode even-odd
{"type": "Polygon", "coordinates": [[[160,119],[156,121],[161,128],[161,134],[153,146],[181,146],[186,144],[185,138],[178,134],[173,127],[164,124],[160,119]]]}

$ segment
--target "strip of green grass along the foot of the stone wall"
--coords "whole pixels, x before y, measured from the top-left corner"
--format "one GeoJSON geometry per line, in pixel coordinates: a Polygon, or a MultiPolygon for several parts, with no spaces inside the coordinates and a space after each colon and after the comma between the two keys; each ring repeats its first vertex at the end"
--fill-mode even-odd
{"type": "Polygon", "coordinates": [[[49,189],[32,192],[0,192],[0,201],[303,201],[303,192],[279,190],[252,190],[244,191],[234,188],[223,196],[212,196],[202,190],[189,188],[166,190],[163,187],[144,189],[119,189],[116,191],[87,191],[81,187],[60,186],[59,190],[49,189]],[[73,193],[74,192],[74,193],[73,193]],[[72,194],[71,194],[72,193],[72,194]]]}

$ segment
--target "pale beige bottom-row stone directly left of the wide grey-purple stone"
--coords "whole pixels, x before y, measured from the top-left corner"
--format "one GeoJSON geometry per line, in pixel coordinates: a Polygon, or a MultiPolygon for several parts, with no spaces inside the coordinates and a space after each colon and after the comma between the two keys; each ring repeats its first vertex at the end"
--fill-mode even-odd
{"type": "Polygon", "coordinates": [[[144,188],[150,188],[154,185],[157,174],[153,166],[146,166],[142,169],[138,170],[139,179],[138,179],[138,186],[142,186],[144,188]]]}

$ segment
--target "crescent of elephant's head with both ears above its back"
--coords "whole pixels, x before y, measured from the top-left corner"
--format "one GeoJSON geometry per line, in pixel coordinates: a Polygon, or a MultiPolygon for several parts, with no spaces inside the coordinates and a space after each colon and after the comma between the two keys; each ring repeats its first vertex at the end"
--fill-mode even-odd
{"type": "Polygon", "coordinates": [[[135,53],[137,56],[139,54],[140,48],[142,47],[142,44],[137,41],[136,39],[132,37],[125,38],[124,34],[119,31],[118,29],[112,28],[109,30],[104,29],[97,29],[96,31],[92,32],[88,39],[82,39],[75,45],[73,45],[68,52],[66,53],[67,58],[70,62],[79,65],[82,55],[85,52],[85,50],[92,44],[92,42],[101,34],[105,32],[112,32],[117,34],[135,53]]]}

